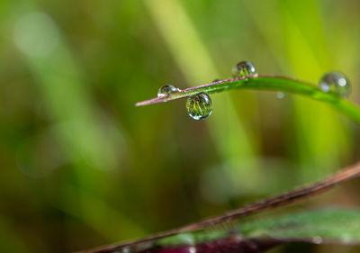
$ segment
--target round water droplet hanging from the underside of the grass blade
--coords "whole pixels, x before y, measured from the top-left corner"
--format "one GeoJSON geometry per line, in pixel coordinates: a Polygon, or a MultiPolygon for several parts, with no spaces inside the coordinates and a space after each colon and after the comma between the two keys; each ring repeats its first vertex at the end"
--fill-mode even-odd
{"type": "Polygon", "coordinates": [[[189,96],[186,102],[186,110],[194,120],[205,119],[212,113],[212,101],[210,95],[201,92],[189,96]]]}

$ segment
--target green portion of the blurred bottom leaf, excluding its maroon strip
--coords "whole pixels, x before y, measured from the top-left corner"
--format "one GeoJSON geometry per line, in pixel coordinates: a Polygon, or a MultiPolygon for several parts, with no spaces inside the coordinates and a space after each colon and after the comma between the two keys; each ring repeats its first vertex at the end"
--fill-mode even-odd
{"type": "Polygon", "coordinates": [[[229,228],[232,232],[222,227],[213,230],[176,233],[157,240],[142,241],[139,244],[132,245],[133,248],[131,249],[134,252],[139,252],[157,247],[194,246],[232,236],[238,239],[238,243],[247,239],[272,238],[284,242],[359,244],[360,212],[358,210],[337,208],[297,212],[260,221],[230,224],[229,228]]]}

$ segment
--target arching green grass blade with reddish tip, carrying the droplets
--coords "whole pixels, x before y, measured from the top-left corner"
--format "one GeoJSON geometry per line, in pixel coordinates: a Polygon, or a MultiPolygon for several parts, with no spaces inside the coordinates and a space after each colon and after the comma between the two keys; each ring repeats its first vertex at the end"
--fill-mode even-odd
{"type": "Polygon", "coordinates": [[[320,88],[311,83],[280,76],[251,76],[228,79],[202,86],[193,86],[171,95],[155,97],[143,102],[139,102],[135,105],[142,106],[148,104],[163,103],[194,95],[200,92],[212,94],[224,92],[230,89],[242,88],[275,90],[309,96],[314,100],[330,104],[333,108],[338,110],[339,113],[346,115],[349,119],[360,124],[360,108],[356,104],[353,104],[348,100],[339,97],[336,94],[323,92],[322,90],[320,90],[320,88]]]}

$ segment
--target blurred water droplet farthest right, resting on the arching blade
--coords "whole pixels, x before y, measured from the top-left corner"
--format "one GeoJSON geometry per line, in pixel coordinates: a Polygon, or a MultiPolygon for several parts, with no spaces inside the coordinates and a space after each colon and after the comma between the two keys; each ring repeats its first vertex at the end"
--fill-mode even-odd
{"type": "Polygon", "coordinates": [[[350,95],[350,82],[344,74],[333,71],[321,77],[319,87],[324,92],[333,92],[339,96],[347,97],[350,95]]]}

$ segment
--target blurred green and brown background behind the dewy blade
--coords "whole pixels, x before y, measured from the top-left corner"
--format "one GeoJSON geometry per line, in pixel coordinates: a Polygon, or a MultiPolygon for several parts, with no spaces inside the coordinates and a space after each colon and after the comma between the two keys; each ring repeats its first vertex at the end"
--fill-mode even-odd
{"type": "MultiPolygon", "coordinates": [[[[359,127],[308,98],[212,95],[201,122],[184,100],[134,104],[230,77],[240,60],[315,83],[342,71],[359,103],[359,13],[356,0],[2,0],[0,251],[139,238],[355,162],[359,127]]],[[[356,206],[356,191],[302,206],[356,206]]]]}

